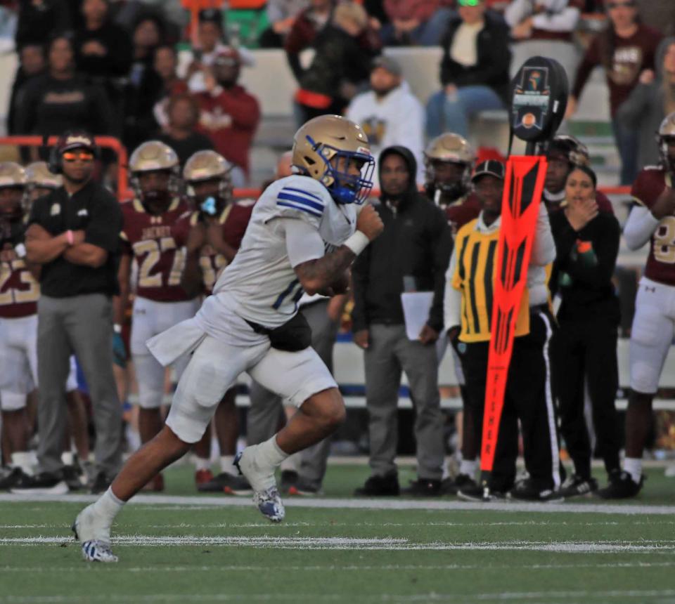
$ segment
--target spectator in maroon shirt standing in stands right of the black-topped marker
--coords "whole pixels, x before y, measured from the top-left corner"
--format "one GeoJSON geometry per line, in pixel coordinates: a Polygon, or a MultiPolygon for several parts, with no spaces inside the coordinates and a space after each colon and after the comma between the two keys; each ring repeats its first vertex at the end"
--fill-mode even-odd
{"type": "Polygon", "coordinates": [[[606,6],[610,27],[593,39],[579,65],[572,96],[567,104],[567,117],[576,112],[577,100],[593,68],[603,65],[610,88],[612,127],[622,162],[621,184],[630,185],[638,174],[639,133],[622,127],[616,115],[637,86],[641,73],[654,70],[661,34],[642,25],[634,0],[610,0],[606,6]]]}

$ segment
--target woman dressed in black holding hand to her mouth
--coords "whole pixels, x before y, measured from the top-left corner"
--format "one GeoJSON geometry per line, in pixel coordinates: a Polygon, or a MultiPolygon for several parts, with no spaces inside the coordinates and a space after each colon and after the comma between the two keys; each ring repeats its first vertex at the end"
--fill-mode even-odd
{"type": "Polygon", "coordinates": [[[619,387],[617,337],[619,298],[612,275],[619,254],[619,221],[600,211],[596,174],[575,166],[567,176],[565,201],[551,214],[556,258],[551,291],[562,298],[555,334],[553,372],[560,409],[560,433],[574,464],[574,473],[560,491],[564,497],[598,489],[591,476],[593,449],[584,417],[587,389],[596,431],[596,448],[612,476],[619,471],[619,387]]]}

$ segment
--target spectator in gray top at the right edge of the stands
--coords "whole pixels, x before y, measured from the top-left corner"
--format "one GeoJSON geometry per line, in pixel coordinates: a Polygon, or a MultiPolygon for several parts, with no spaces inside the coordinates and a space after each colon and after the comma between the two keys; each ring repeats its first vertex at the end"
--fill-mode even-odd
{"type": "Polygon", "coordinates": [[[639,166],[659,162],[654,136],[664,117],[675,111],[675,37],[664,38],[656,54],[656,73],[642,72],[640,84],[617,111],[617,120],[625,128],[640,133],[639,166]]]}

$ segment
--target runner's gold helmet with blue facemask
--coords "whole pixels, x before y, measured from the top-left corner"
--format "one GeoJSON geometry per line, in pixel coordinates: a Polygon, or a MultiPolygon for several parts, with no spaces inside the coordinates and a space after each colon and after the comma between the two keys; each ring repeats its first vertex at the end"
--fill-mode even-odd
{"type": "Polygon", "coordinates": [[[319,180],[339,204],[362,204],[373,188],[375,159],[368,137],[359,124],[340,115],[320,115],[300,126],[293,137],[293,166],[319,180]],[[353,160],[359,176],[349,174],[353,160]]]}

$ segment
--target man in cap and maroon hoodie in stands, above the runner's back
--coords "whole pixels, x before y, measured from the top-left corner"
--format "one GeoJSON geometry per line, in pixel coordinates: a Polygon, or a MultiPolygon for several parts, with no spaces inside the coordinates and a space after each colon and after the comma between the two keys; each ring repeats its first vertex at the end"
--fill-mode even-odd
{"type": "Polygon", "coordinates": [[[197,95],[201,107],[199,129],[212,140],[215,150],[234,165],[231,178],[235,187],[248,182],[248,156],[260,122],[257,98],[237,84],[241,64],[236,48],[222,48],[205,71],[206,90],[197,95]]]}

